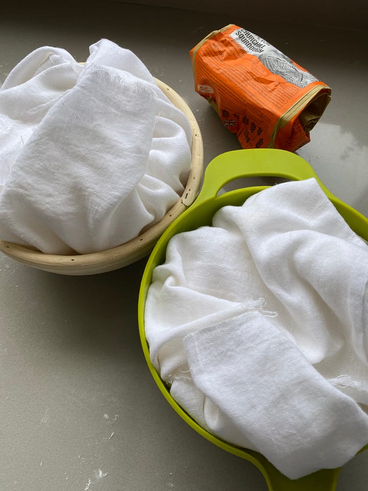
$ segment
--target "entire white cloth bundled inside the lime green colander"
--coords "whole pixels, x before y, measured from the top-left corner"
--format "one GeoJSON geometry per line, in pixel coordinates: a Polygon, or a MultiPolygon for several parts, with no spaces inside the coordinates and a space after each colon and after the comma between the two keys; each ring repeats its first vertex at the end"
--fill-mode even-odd
{"type": "Polygon", "coordinates": [[[368,246],[314,179],[174,236],[145,308],[152,363],[203,428],[291,479],[368,443],[368,246]]]}

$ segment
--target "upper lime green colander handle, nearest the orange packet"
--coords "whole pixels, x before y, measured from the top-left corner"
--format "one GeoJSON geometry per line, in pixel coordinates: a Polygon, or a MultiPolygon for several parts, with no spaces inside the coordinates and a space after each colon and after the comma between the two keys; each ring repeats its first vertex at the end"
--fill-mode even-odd
{"type": "Polygon", "coordinates": [[[286,150],[260,148],[233,150],[213,159],[204,173],[203,185],[196,205],[217,195],[228,182],[240,177],[276,176],[291,181],[314,177],[327,197],[337,199],[318,179],[312,167],[302,157],[286,150]]]}

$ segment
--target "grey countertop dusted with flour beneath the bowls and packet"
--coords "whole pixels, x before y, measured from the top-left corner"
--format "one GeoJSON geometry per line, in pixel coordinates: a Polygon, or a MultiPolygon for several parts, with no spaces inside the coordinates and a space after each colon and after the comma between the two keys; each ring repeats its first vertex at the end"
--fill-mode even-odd
{"type": "MultiPolygon", "coordinates": [[[[0,16],[0,82],[40,46],[59,46],[84,60],[90,44],[109,38],[189,104],[205,165],[240,146],[194,92],[189,50],[229,23],[264,37],[332,87],[311,143],[298,153],[336,196],[368,216],[366,31],[303,19],[280,23],[245,11],[25,5],[8,2],[0,16]]],[[[194,432],[157,389],[136,316],[145,262],[68,277],[0,256],[0,491],[267,489],[256,467],[194,432]]],[[[365,452],[343,467],[337,490],[367,487],[365,452]]]]}

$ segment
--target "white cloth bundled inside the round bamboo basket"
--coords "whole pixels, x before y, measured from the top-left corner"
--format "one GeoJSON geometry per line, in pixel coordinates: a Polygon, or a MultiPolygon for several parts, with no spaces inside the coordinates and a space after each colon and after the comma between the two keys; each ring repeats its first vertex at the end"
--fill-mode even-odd
{"type": "Polygon", "coordinates": [[[186,116],[102,39],[85,66],[29,54],[0,89],[0,238],[50,254],[122,244],[159,221],[191,165],[186,116]]]}

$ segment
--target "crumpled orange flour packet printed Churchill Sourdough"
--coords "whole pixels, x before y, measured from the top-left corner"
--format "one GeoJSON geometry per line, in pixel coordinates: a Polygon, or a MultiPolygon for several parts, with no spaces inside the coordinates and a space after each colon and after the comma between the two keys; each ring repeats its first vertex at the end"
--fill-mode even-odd
{"type": "Polygon", "coordinates": [[[294,151],[331,100],[331,88],[271,44],[233,24],[190,51],[195,90],[243,148],[294,151]]]}

